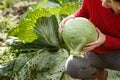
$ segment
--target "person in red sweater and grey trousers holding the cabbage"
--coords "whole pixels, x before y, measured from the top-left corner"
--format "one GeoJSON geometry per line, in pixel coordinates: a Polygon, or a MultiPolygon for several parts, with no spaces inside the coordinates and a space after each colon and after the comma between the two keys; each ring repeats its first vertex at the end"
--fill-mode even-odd
{"type": "MultiPolygon", "coordinates": [[[[90,80],[107,80],[106,69],[120,71],[120,0],[84,0],[79,10],[60,22],[61,34],[65,22],[75,17],[89,19],[99,35],[96,41],[83,48],[87,55],[85,59],[96,69],[95,74],[90,75],[90,80]]],[[[78,75],[81,62],[75,56],[67,60],[66,73],[81,79],[78,75]]]]}

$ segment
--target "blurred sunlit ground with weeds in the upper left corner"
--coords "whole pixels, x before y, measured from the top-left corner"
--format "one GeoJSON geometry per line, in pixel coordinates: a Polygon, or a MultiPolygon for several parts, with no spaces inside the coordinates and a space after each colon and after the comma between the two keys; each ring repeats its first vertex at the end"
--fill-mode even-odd
{"type": "Polygon", "coordinates": [[[6,49],[6,36],[8,31],[16,26],[20,16],[28,6],[36,4],[39,0],[0,0],[0,53],[6,49]]]}

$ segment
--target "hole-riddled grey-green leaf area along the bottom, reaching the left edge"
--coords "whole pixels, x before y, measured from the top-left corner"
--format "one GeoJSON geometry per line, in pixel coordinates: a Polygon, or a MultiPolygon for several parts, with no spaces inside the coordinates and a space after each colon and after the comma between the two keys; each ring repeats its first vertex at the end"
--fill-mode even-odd
{"type": "Polygon", "coordinates": [[[60,80],[67,57],[68,52],[63,49],[54,53],[41,49],[2,65],[0,76],[19,80],[60,80]]]}

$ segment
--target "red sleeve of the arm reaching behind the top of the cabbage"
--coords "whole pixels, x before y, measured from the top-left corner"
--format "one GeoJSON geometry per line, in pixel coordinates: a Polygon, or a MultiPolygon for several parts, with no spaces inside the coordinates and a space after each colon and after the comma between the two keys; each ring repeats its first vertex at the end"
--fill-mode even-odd
{"type": "Polygon", "coordinates": [[[74,14],[75,17],[89,18],[89,12],[88,12],[87,5],[88,5],[88,0],[84,0],[81,8],[75,12],[74,14]]]}

